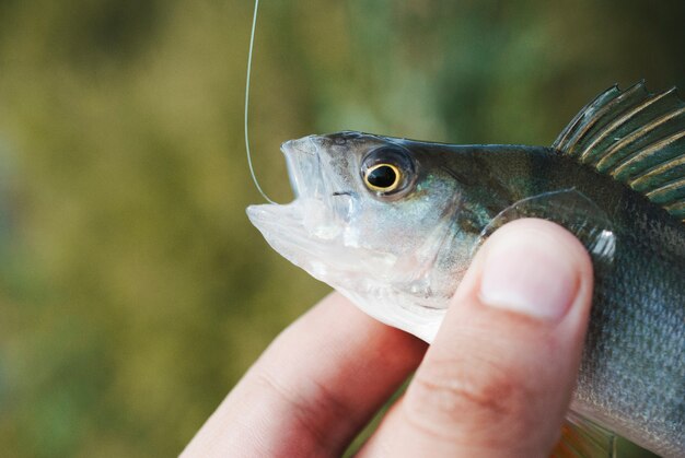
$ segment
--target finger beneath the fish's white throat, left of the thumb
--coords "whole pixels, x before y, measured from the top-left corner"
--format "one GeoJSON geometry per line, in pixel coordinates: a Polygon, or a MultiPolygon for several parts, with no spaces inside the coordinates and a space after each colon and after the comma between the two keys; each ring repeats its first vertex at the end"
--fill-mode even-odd
{"type": "Polygon", "coordinates": [[[339,455],[425,351],[330,294],[271,343],[184,456],[339,455]]]}

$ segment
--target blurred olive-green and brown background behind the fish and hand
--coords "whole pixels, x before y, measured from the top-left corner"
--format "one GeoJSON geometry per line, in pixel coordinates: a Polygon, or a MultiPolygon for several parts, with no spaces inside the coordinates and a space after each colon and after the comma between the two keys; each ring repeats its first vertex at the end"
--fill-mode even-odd
{"type": "MultiPolygon", "coordinates": [[[[263,1],[251,129],[549,144],[614,82],[685,87],[682,0],[263,1]]],[[[327,291],[244,209],[253,4],[0,0],[0,455],[171,456],[327,291]]]]}

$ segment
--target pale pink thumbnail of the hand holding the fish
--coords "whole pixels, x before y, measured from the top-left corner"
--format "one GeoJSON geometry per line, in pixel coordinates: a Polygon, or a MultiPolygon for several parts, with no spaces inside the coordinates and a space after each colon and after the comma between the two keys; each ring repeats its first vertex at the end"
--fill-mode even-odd
{"type": "Polygon", "coordinates": [[[554,234],[512,231],[486,251],[480,280],[484,304],[533,318],[559,321],[578,292],[579,272],[572,256],[554,234]]]}

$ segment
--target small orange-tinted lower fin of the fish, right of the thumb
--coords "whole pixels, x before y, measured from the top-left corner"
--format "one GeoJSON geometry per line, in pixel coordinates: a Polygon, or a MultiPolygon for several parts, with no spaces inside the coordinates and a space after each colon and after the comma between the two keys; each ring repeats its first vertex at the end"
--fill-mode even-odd
{"type": "Polygon", "coordinates": [[[616,436],[599,424],[569,411],[561,426],[561,438],[552,451],[553,458],[615,458],[616,436]]]}

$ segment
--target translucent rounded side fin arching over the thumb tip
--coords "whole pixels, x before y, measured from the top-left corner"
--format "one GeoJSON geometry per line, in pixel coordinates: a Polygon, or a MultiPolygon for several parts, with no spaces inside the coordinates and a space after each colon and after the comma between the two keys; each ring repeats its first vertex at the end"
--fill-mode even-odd
{"type": "Polygon", "coordinates": [[[573,188],[532,196],[499,212],[480,232],[472,257],[496,230],[521,218],[541,218],[566,227],[585,246],[595,270],[613,266],[616,237],[611,220],[592,200],[573,188]]]}

